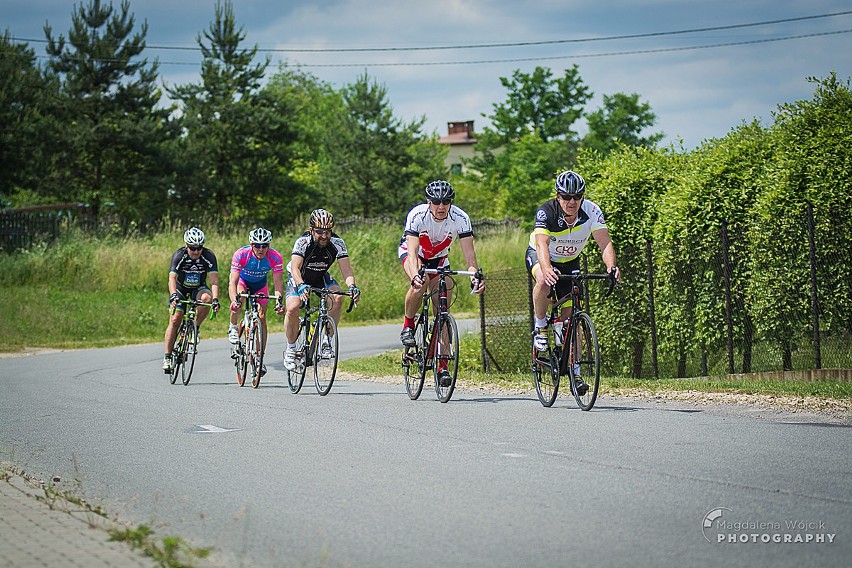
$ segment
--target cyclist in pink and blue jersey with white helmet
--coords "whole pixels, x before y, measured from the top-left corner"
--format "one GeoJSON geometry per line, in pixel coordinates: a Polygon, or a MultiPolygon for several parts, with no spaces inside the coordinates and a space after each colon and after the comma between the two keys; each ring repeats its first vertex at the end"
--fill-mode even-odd
{"type": "MultiPolygon", "coordinates": [[[[228,295],[231,298],[231,325],[228,327],[228,340],[235,344],[239,341],[237,323],[240,318],[239,294],[269,294],[267,275],[272,272],[272,285],[276,293],[275,311],[284,313],[284,302],[281,291],[284,290],[284,259],[274,248],[272,233],[263,227],[258,227],[249,233],[249,244],[237,249],[231,258],[231,277],[228,281],[228,295]]],[[[267,300],[258,301],[258,316],[263,326],[263,348],[266,350],[266,338],[269,336],[266,325],[267,300]]],[[[266,374],[266,364],[261,366],[261,375],[266,374]]]]}

